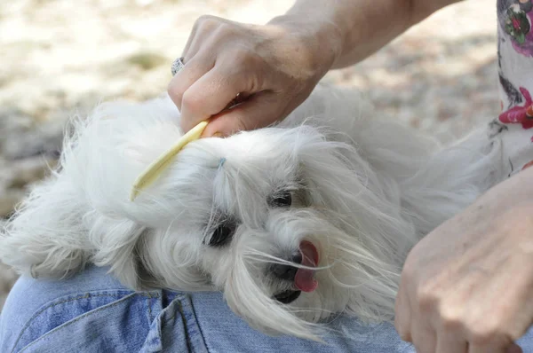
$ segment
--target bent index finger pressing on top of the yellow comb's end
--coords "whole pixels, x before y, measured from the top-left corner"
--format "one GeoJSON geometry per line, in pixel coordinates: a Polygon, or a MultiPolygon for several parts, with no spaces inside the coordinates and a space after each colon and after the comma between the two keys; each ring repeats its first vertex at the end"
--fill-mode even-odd
{"type": "Polygon", "coordinates": [[[181,127],[192,129],[198,122],[219,114],[241,92],[249,91],[248,77],[227,75],[226,70],[213,68],[193,83],[182,95],[181,127]]]}

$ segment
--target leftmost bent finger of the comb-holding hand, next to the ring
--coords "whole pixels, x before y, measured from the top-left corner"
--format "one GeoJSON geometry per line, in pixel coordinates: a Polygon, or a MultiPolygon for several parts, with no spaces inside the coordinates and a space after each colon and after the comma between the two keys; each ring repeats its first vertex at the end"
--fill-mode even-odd
{"type": "Polygon", "coordinates": [[[172,77],[168,93],[172,102],[181,111],[184,93],[203,75],[209,73],[215,65],[215,60],[208,57],[193,58],[185,61],[185,66],[172,77]]]}

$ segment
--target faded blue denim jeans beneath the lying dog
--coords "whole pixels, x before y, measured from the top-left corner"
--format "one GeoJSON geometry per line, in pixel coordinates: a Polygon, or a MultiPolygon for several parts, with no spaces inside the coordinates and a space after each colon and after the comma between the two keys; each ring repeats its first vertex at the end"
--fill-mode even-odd
{"type": "MultiPolygon", "coordinates": [[[[107,269],[61,281],[20,278],[0,316],[0,352],[414,352],[394,326],[340,317],[326,343],[259,333],[219,293],[132,292],[107,269]],[[347,334],[341,333],[341,331],[347,334]]],[[[533,333],[521,341],[533,352],[533,333]]]]}

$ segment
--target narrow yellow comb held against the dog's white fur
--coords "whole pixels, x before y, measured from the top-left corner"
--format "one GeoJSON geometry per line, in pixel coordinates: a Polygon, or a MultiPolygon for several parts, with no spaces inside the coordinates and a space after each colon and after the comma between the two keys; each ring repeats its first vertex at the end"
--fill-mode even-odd
{"type": "Polygon", "coordinates": [[[157,176],[159,176],[163,170],[172,161],[172,157],[181,151],[189,142],[195,141],[202,136],[203,130],[207,126],[207,121],[200,122],[193,129],[190,129],[187,134],[179,138],[176,145],[173,145],[170,150],[163,153],[156,161],[152,162],[148,168],[135,180],[133,188],[130,193],[130,200],[133,201],[139,195],[139,192],[146,188],[149,184],[152,184],[157,176]]]}

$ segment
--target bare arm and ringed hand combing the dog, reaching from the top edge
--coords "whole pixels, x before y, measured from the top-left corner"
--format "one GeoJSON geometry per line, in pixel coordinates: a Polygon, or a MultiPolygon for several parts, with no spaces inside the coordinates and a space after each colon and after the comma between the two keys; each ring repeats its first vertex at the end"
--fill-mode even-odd
{"type": "Polygon", "coordinates": [[[204,16],[183,51],[169,94],[182,128],[211,118],[204,136],[279,121],[331,68],[366,58],[449,0],[298,0],[256,26],[204,16]],[[237,94],[243,102],[219,114],[237,94]]]}

